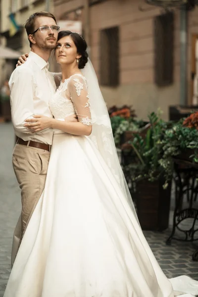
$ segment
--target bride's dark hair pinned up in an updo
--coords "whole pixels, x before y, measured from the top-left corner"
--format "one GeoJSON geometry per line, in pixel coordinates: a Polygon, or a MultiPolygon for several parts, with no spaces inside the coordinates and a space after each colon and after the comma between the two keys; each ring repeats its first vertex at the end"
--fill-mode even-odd
{"type": "Polygon", "coordinates": [[[86,41],[82,38],[82,36],[76,32],[71,32],[71,31],[60,31],[58,33],[58,40],[65,36],[71,36],[76,48],[77,52],[81,54],[81,58],[79,58],[79,63],[78,63],[78,68],[83,69],[88,62],[88,53],[87,53],[87,43],[86,41]]]}

